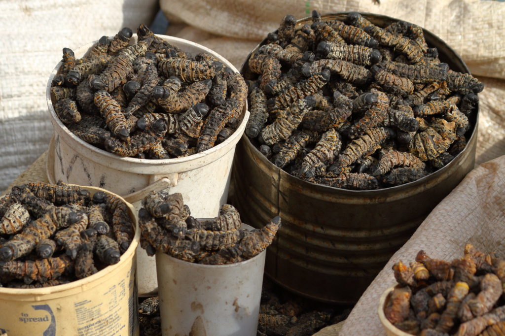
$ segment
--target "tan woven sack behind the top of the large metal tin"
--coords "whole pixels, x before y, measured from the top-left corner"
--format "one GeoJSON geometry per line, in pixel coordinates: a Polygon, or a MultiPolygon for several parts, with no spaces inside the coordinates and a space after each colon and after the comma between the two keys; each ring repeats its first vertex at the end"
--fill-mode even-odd
{"type": "Polygon", "coordinates": [[[482,0],[161,0],[172,20],[210,33],[260,40],[286,14],[296,18],[360,11],[406,20],[428,29],[465,60],[475,75],[505,78],[505,4],[482,0]]]}

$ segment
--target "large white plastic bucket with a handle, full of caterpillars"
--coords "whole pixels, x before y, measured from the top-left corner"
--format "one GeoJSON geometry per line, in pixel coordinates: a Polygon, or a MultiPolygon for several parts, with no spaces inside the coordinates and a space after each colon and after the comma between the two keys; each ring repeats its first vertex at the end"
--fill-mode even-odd
{"type": "MultiPolygon", "coordinates": [[[[172,36],[158,36],[193,55],[199,52],[210,53],[223,65],[238,72],[225,58],[203,45],[172,36]]],[[[136,34],[132,40],[136,41],[136,34]]],[[[93,43],[76,50],[76,58],[82,57],[93,43]]],[[[211,149],[187,157],[163,160],[120,157],[79,139],[58,119],[51,100],[51,82],[61,65],[60,62],[49,76],[46,91],[49,115],[55,129],[47,158],[47,177],[50,182],[62,180],[105,188],[122,195],[137,211],[141,207],[140,201],[150,191],[169,190],[170,193],[182,194],[194,217],[218,215],[219,207],[228,197],[235,147],[249,118],[247,102],[238,129],[223,143],[211,149]]],[[[139,295],[156,293],[155,258],[148,257],[140,247],[137,257],[139,295]]]]}

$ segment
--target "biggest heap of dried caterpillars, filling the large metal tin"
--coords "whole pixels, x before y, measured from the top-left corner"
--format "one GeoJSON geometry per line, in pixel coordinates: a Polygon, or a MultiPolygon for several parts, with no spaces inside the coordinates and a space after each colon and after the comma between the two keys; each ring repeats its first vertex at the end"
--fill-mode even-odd
{"type": "Polygon", "coordinates": [[[244,67],[245,133],[275,165],[332,187],[422,178],[466,146],[483,84],[449,69],[421,27],[287,15],[244,67]]]}

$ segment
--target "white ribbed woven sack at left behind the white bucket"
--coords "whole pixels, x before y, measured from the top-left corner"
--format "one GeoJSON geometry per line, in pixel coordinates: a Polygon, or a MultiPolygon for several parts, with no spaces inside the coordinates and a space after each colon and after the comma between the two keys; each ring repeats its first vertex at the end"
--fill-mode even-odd
{"type": "Polygon", "coordinates": [[[157,0],[0,1],[0,190],[47,149],[53,128],[45,88],[63,47],[149,24],[157,6],[157,0]]]}

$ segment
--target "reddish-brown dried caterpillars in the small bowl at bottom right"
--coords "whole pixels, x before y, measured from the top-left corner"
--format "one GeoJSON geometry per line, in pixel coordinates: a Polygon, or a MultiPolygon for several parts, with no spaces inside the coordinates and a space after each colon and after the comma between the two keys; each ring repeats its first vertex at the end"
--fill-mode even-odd
{"type": "Polygon", "coordinates": [[[505,259],[465,245],[462,258],[430,258],[393,265],[398,285],[384,314],[413,335],[491,336],[505,331],[505,259]]]}

